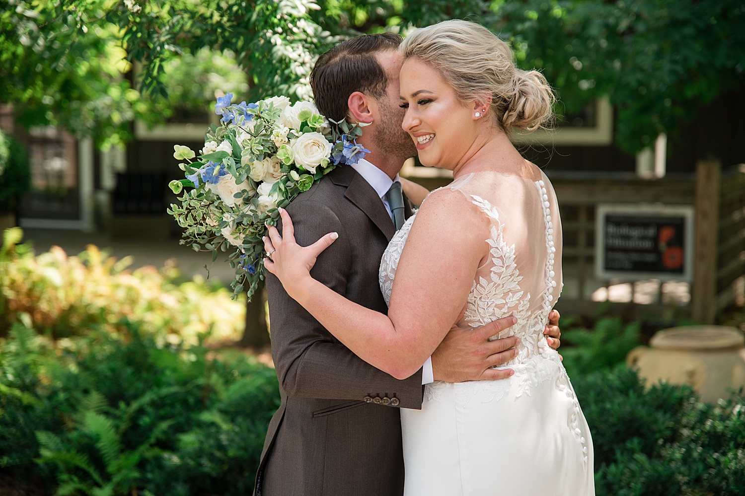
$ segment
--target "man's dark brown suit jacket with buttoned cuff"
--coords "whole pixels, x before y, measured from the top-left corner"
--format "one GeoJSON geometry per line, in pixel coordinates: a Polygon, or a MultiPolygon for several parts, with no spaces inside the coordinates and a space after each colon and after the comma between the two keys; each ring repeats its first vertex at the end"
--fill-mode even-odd
{"type": "MultiPolygon", "coordinates": [[[[378,266],[396,229],[373,187],[343,166],[287,210],[302,246],[339,233],[311,275],[352,302],[387,313],[378,266]]],[[[422,407],[421,369],[399,381],[343,346],[271,274],[267,292],[282,404],[264,441],[256,495],[402,495],[398,407],[422,407]]]]}

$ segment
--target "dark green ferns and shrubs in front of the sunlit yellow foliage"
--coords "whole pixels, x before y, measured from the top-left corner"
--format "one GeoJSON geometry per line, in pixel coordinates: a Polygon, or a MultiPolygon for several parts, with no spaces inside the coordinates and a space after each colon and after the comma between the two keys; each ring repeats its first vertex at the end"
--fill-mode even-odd
{"type": "Polygon", "coordinates": [[[16,324],[0,367],[0,470],[60,495],[250,494],[279,406],[253,358],[127,324],[57,343],[16,324]]]}

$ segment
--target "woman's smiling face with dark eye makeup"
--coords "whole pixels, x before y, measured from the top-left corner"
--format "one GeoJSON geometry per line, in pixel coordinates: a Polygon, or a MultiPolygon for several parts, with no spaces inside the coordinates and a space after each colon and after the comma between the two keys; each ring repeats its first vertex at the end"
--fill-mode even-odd
{"type": "Polygon", "coordinates": [[[401,69],[402,128],[428,167],[454,169],[478,134],[475,112],[460,101],[440,71],[416,58],[401,69]]]}

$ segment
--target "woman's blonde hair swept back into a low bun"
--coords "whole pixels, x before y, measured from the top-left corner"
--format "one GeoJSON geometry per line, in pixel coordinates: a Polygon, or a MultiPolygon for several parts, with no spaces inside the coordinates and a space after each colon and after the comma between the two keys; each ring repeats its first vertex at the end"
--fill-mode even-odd
{"type": "Polygon", "coordinates": [[[539,71],[515,66],[510,45],[484,26],[457,19],[413,31],[399,51],[434,67],[464,103],[492,98],[504,129],[536,130],[551,121],[554,91],[539,71]]]}

